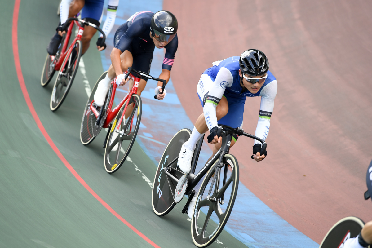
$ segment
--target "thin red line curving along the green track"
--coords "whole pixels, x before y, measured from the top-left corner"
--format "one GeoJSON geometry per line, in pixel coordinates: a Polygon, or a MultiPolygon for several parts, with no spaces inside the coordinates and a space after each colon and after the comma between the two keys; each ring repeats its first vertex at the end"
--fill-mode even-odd
{"type": "Polygon", "coordinates": [[[17,71],[17,77],[19,81],[19,85],[21,87],[23,96],[25,97],[26,103],[28,108],[30,109],[30,112],[32,114],[33,119],[35,120],[36,124],[38,125],[40,131],[44,135],[45,139],[47,139],[48,144],[51,146],[53,151],[57,154],[57,156],[60,158],[60,160],[64,163],[64,165],[67,167],[69,171],[76,177],[76,179],[83,184],[83,186],[91,193],[103,206],[106,207],[113,215],[116,216],[119,220],[121,220],[125,225],[127,225],[132,231],[137,233],[141,238],[143,238],[145,241],[147,241],[149,244],[151,244],[153,247],[160,248],[157,244],[155,244],[153,241],[151,241],[149,238],[147,238],[144,234],[142,234],[140,231],[138,231],[134,226],[132,226],[128,221],[126,221],[124,218],[122,218],[118,213],[113,210],[109,204],[107,204],[104,200],[102,200],[101,197],[99,197],[96,192],[92,190],[91,187],[83,180],[83,178],[80,177],[79,174],[74,170],[74,168],[67,162],[65,157],[61,154],[60,150],[58,150],[57,146],[54,144],[52,139],[49,137],[47,131],[45,130],[43,124],[41,123],[38,114],[36,113],[30,96],[28,94],[25,80],[23,79],[23,74],[21,70],[21,64],[19,61],[19,53],[18,53],[18,36],[17,36],[17,31],[18,31],[18,15],[19,15],[19,6],[20,6],[20,1],[21,0],[15,0],[14,4],[14,10],[13,10],[13,25],[12,25],[12,43],[13,43],[13,56],[14,56],[14,64],[16,67],[17,71]]]}

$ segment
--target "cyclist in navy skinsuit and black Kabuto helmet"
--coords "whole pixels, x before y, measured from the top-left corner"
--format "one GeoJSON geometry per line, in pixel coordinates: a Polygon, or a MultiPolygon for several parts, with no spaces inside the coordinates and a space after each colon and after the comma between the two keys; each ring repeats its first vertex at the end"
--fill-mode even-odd
{"type": "MultiPolygon", "coordinates": [[[[94,102],[97,106],[102,107],[105,103],[110,83],[115,77],[115,83],[119,86],[123,86],[129,80],[129,77],[125,80],[125,74],[123,74],[123,71],[128,70],[129,67],[143,73],[150,73],[155,47],[166,49],[161,74],[158,78],[164,79],[168,83],[178,47],[177,28],[176,17],[166,10],[156,13],[137,12],[121,25],[114,36],[115,47],[111,52],[112,65],[110,65],[106,77],[99,82],[94,93],[94,102]]],[[[129,82],[129,88],[133,87],[133,83],[132,80],[129,82]]],[[[147,78],[140,80],[138,95],[141,95],[146,84],[147,78]]],[[[162,86],[163,83],[159,81],[155,88],[158,100],[163,100],[167,93],[166,90],[162,92],[162,86]]],[[[128,110],[130,113],[129,107],[127,112],[128,110]]]]}

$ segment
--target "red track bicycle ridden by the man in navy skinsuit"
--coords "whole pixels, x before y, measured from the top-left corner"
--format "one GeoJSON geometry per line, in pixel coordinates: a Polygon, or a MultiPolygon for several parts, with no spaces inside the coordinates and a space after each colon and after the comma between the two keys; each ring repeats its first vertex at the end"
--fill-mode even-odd
{"type": "MultiPolygon", "coordinates": [[[[83,118],[81,119],[80,141],[83,145],[90,144],[102,128],[109,128],[103,144],[103,148],[105,148],[105,170],[108,173],[114,173],[124,163],[134,144],[138,129],[140,128],[142,101],[141,97],[137,95],[140,79],[148,78],[161,81],[163,83],[163,91],[166,84],[166,80],[164,79],[151,77],[131,67],[129,67],[128,71],[125,73],[125,79],[129,76],[134,84],[118,106],[112,109],[116,87],[118,87],[115,80],[111,82],[103,106],[98,107],[94,103],[94,93],[97,90],[99,81],[106,77],[107,71],[105,71],[94,85],[85,106],[83,118]],[[131,74],[132,72],[137,73],[138,76],[135,77],[131,74]],[[126,111],[128,106],[132,108],[130,113],[130,108],[126,111]],[[111,124],[112,121],[113,123],[111,124]]],[[[156,96],[154,96],[154,98],[156,99],[156,96]]]]}

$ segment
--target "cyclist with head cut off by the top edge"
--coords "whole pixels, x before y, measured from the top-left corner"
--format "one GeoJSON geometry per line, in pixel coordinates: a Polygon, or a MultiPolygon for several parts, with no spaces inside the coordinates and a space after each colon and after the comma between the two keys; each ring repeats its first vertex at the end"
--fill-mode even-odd
{"type": "MultiPolygon", "coordinates": [[[[70,17],[76,16],[81,10],[81,19],[86,20],[96,26],[100,26],[100,22],[103,16],[103,3],[105,0],[62,0],[60,4],[60,23],[56,29],[55,35],[52,37],[47,47],[49,55],[55,55],[58,51],[58,47],[62,41],[62,35],[67,30],[62,30],[63,24],[70,17]]],[[[109,0],[108,9],[105,23],[103,24],[103,32],[106,37],[111,32],[116,18],[116,9],[118,8],[119,0],[109,0]]],[[[68,27],[68,26],[67,26],[68,27]]],[[[83,35],[81,37],[83,55],[89,48],[90,40],[93,35],[97,32],[97,29],[86,26],[84,28],[83,35]]],[[[106,44],[102,43],[103,35],[101,34],[97,39],[96,45],[98,51],[102,51],[106,48],[106,44]]],[[[74,52],[74,51],[73,51],[74,52]]],[[[74,55],[73,55],[74,57],[74,55]]]]}

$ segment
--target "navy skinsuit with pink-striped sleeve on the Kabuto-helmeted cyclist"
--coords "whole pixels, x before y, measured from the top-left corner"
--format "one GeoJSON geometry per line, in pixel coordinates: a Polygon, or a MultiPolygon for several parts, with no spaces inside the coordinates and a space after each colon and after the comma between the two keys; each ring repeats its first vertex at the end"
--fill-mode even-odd
{"type": "MultiPolygon", "coordinates": [[[[155,44],[150,36],[151,18],[154,13],[141,11],[131,16],[126,23],[116,30],[114,36],[114,46],[121,52],[128,50],[133,56],[132,67],[137,71],[150,73],[151,62],[155,44]]],[[[178,47],[177,34],[166,45],[163,69],[171,70],[174,62],[174,54],[178,47]]],[[[147,79],[145,79],[147,81],[147,79]]]]}

